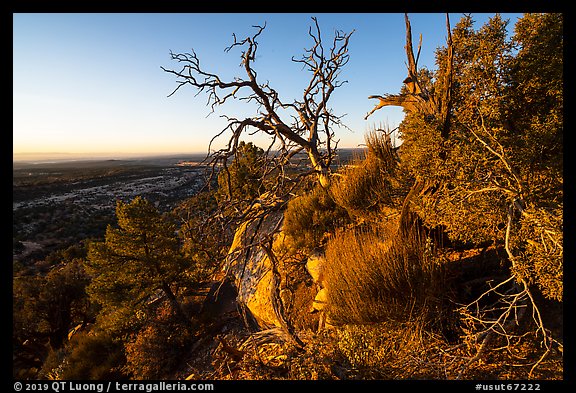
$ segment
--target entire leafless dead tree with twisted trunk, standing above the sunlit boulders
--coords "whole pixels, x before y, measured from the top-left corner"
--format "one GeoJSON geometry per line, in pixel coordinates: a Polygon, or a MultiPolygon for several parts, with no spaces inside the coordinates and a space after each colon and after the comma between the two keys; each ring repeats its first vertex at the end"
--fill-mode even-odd
{"type": "MultiPolygon", "coordinates": [[[[341,122],[341,116],[333,113],[329,101],[334,91],[346,82],[339,77],[349,60],[348,44],[353,31],[336,31],[331,45],[327,47],[317,19],[312,18],[312,21],[313,25],[308,31],[312,40],[310,48],[305,50],[300,58],[292,58],[293,62],[301,64],[310,73],[310,80],[304,86],[300,99],[287,101],[268,81],[262,82],[258,79],[255,68],[258,38],[265,31],[265,24],[253,26],[255,33],[244,39],[233,35],[233,42],[225,51],[241,50],[242,75],[231,80],[224,80],[204,69],[195,51],[171,52],[172,60],[181,67],[162,67],[177,80],[177,86],[169,96],[189,85],[197,90],[197,94],[207,95],[207,106],[211,108],[211,113],[217,107],[223,107],[233,100],[257,104],[257,111],[249,117],[222,115],[228,124],[213,137],[208,147],[207,159],[211,164],[212,174],[216,170],[227,173],[230,159],[238,153],[243,136],[259,133],[269,137],[269,145],[265,149],[262,162],[262,175],[258,179],[266,183],[267,191],[252,201],[252,207],[257,205],[258,209],[238,209],[235,217],[237,223],[262,219],[278,205],[278,200],[286,202],[298,183],[308,175],[316,176],[324,187],[330,183],[330,165],[338,143],[333,129],[335,126],[345,125],[341,122]],[[213,143],[222,139],[226,141],[225,146],[212,151],[213,143]],[[299,165],[301,161],[307,164],[299,165]]],[[[268,254],[271,252],[269,242],[249,244],[247,247],[258,247],[268,254]]],[[[270,257],[272,264],[275,260],[275,257],[270,257]]],[[[276,269],[277,267],[273,266],[273,270],[276,269]]],[[[278,295],[278,285],[276,287],[275,292],[278,295]]],[[[281,307],[275,308],[275,311],[281,314],[281,307]]],[[[282,320],[282,315],[280,317],[282,320]]]]}

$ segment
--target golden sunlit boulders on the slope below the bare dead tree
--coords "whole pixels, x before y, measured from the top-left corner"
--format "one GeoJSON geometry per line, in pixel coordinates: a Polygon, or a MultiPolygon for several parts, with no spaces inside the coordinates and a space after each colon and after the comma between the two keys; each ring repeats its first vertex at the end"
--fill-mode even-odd
{"type": "MultiPolygon", "coordinates": [[[[281,209],[261,211],[258,207],[251,213],[253,217],[245,221],[236,230],[230,247],[226,274],[237,289],[237,302],[248,311],[259,329],[280,329],[297,345],[301,345],[293,326],[288,319],[288,310],[293,307],[294,294],[282,281],[285,260],[277,260],[285,255],[290,240],[282,233],[284,212],[281,209]]],[[[323,278],[322,269],[325,258],[322,253],[311,255],[306,263],[306,270],[316,283],[317,290],[309,301],[299,298],[300,304],[311,304],[310,312],[319,312],[319,329],[327,326],[326,307],[328,289],[323,278]],[[315,300],[314,296],[316,296],[315,300]]],[[[302,295],[302,294],[301,294],[302,295]]]]}

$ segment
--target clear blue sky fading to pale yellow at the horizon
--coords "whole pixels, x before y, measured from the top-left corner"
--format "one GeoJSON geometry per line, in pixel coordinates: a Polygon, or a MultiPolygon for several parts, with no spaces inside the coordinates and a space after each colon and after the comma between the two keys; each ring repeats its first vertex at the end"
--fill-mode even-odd
{"type": "MultiPolygon", "coordinates": [[[[350,32],[347,80],[331,99],[335,114],[352,129],[336,130],[340,147],[363,143],[374,125],[396,127],[400,108],[383,108],[368,120],[371,94],[398,93],[406,77],[403,14],[306,13],[16,13],[13,15],[13,153],[167,154],[207,151],[223,129],[220,117],[250,115],[252,106],[226,104],[210,116],[207,96],[185,86],[160,66],[178,69],[169,52],[194,49],[206,71],[244,77],[240,51],[224,52],[232,34],[259,37],[254,68],[280,98],[301,98],[309,74],[291,61],[311,46],[308,28],[318,18],[326,46],[334,30],[350,32]]],[[[454,26],[462,14],[450,14],[454,26]]],[[[480,28],[493,14],[473,14],[480,28]]],[[[509,32],[521,14],[510,19],[509,32]]],[[[434,68],[434,50],[445,44],[445,15],[410,14],[414,45],[422,33],[419,65],[434,68]]],[[[288,120],[287,120],[288,121],[288,120]]],[[[256,143],[261,141],[255,139],[256,143]]]]}

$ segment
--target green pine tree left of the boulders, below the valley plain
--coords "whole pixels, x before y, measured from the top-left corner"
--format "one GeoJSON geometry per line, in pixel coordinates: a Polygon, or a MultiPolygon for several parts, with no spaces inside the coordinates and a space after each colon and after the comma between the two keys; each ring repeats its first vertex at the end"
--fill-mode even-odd
{"type": "Polygon", "coordinates": [[[118,228],[109,225],[106,240],[92,243],[88,253],[94,276],[88,292],[102,305],[101,314],[117,315],[125,323],[122,315],[145,316],[147,304],[165,297],[185,320],[177,290],[184,283],[186,261],[175,226],[142,197],[118,201],[116,216],[118,228]]]}

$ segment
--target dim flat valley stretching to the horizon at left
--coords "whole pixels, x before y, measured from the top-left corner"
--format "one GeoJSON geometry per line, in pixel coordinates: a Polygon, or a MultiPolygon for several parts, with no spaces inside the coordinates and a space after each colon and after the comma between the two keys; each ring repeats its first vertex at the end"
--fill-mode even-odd
{"type": "Polygon", "coordinates": [[[13,164],[13,256],[28,266],[51,251],[101,237],[116,200],[142,195],[173,208],[205,184],[203,156],[13,164]]]}

